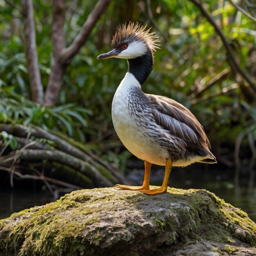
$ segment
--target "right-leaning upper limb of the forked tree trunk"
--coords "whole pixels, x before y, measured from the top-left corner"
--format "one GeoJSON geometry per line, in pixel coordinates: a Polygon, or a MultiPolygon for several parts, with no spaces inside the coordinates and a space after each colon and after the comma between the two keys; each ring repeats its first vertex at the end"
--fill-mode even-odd
{"type": "Polygon", "coordinates": [[[79,52],[109,2],[110,0],[99,0],[97,2],[73,43],[61,53],[61,63],[70,63],[72,58],[79,52]]]}

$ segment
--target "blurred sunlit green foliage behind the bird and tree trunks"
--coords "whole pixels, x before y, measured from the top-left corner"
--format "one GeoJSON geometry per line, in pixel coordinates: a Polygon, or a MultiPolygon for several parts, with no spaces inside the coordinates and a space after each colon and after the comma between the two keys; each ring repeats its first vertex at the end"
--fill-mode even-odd
{"type": "MultiPolygon", "coordinates": [[[[81,30],[96,2],[66,3],[67,46],[81,30]]],[[[51,4],[45,0],[34,2],[39,67],[45,88],[51,68],[51,4]]],[[[238,64],[256,81],[255,22],[227,1],[208,0],[203,1],[203,5],[226,36],[238,64]]],[[[59,106],[53,108],[28,100],[23,21],[9,4],[0,2],[0,7],[2,122],[36,124],[82,141],[86,135],[95,144],[109,139],[113,132],[111,101],[127,70],[127,63],[120,59],[99,61],[96,57],[111,49],[111,36],[119,25],[133,20],[148,22],[148,27],[153,26],[152,30],[160,36],[161,49],[155,54],[155,68],[143,86],[144,92],[164,95],[189,107],[210,139],[234,143],[238,136],[245,134],[242,136],[245,143],[255,143],[254,92],[232,68],[218,77],[230,67],[226,49],[214,28],[189,0],[151,1],[153,18],[159,28],[149,22],[146,1],[110,2],[85,45],[67,67],[59,106]],[[210,83],[211,79],[216,80],[210,83]],[[93,115],[89,115],[91,113],[93,115]]],[[[246,9],[245,5],[242,7],[246,9]]],[[[121,162],[125,159],[126,156],[121,162]]]]}

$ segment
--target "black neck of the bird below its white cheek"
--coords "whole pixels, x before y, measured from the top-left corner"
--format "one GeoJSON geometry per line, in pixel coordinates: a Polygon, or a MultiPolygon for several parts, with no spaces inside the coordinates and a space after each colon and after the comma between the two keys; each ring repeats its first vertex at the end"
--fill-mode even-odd
{"type": "Polygon", "coordinates": [[[146,54],[137,58],[128,59],[128,72],[132,73],[141,85],[148,79],[152,72],[154,59],[152,52],[148,50],[146,54]]]}

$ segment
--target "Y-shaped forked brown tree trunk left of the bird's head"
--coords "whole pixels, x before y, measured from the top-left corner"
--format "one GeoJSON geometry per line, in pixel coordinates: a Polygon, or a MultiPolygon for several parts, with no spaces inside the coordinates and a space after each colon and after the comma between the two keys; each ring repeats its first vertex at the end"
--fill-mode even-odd
{"type": "MultiPolygon", "coordinates": [[[[58,42],[53,45],[54,51],[54,65],[49,77],[47,89],[45,91],[45,106],[52,106],[56,104],[58,100],[58,94],[61,89],[63,76],[68,64],[70,64],[72,58],[79,52],[85,41],[87,40],[92,28],[99,20],[104,9],[107,7],[110,0],[99,0],[88,16],[87,20],[83,24],[80,33],[76,36],[73,43],[65,48],[64,45],[64,19],[65,19],[65,1],[56,0],[53,4],[53,27],[56,29],[53,31],[52,39],[55,41],[55,36],[58,38],[58,42]]],[[[54,44],[54,43],[53,43],[54,44]]]]}

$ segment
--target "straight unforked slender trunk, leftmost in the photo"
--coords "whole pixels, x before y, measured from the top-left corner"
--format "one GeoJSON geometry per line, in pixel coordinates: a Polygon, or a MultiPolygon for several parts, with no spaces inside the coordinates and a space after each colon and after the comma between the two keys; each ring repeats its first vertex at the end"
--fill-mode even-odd
{"type": "Polygon", "coordinates": [[[31,99],[41,104],[43,103],[43,86],[38,68],[33,2],[32,0],[22,0],[21,5],[25,20],[25,49],[31,83],[31,99]]]}

